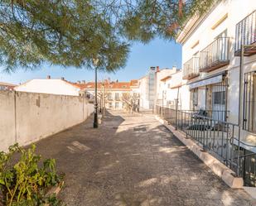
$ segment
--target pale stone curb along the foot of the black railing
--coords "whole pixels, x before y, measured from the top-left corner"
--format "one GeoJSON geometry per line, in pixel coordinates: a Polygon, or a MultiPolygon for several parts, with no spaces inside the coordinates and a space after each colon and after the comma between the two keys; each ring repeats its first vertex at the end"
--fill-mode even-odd
{"type": "Polygon", "coordinates": [[[187,139],[186,136],[175,130],[175,127],[168,125],[167,121],[162,120],[160,117],[155,115],[155,118],[158,122],[161,122],[167,129],[173,133],[185,146],[187,146],[196,156],[202,160],[205,165],[210,167],[210,169],[218,175],[222,180],[225,181],[225,184],[228,184],[232,189],[243,189],[244,180],[240,177],[235,177],[233,170],[230,170],[227,166],[222,164],[220,160],[217,160],[214,156],[211,156],[208,152],[201,151],[202,148],[196,144],[196,141],[192,139],[187,139]]]}

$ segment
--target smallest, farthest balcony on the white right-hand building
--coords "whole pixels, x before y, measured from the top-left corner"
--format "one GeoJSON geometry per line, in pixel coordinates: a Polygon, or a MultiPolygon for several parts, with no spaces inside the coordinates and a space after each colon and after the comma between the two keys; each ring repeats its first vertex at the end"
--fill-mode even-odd
{"type": "Polygon", "coordinates": [[[193,79],[199,76],[199,57],[192,57],[183,65],[182,79],[193,79]]]}

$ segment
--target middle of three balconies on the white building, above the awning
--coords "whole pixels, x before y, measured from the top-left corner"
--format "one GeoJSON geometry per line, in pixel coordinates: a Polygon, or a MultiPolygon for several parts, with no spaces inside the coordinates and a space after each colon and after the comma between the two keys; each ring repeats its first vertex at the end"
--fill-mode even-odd
{"type": "Polygon", "coordinates": [[[229,65],[229,37],[219,37],[200,51],[200,72],[229,65]]]}

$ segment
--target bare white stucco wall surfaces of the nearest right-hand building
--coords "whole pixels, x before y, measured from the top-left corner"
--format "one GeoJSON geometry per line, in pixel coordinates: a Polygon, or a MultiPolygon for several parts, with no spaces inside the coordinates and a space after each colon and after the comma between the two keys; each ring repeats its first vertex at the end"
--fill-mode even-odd
{"type": "MultiPolygon", "coordinates": [[[[250,13],[256,9],[255,0],[223,0],[216,7],[212,9],[208,15],[202,19],[202,21],[196,26],[196,28],[190,32],[186,41],[182,42],[182,65],[190,60],[196,52],[205,49],[205,46],[209,46],[215,37],[220,35],[221,32],[227,31],[227,37],[229,37],[229,65],[215,69],[208,73],[200,73],[199,77],[188,80],[188,84],[200,79],[220,73],[220,71],[228,71],[228,90],[227,90],[227,109],[228,122],[238,123],[238,111],[239,111],[239,60],[240,58],[234,56],[234,41],[235,41],[235,28],[236,24],[247,17],[250,13]],[[219,26],[213,28],[221,17],[228,15],[224,22],[221,22],[219,26]],[[199,44],[193,47],[196,42],[199,44]]],[[[256,70],[256,55],[252,55],[244,58],[244,73],[256,70]]],[[[242,74],[244,77],[244,73],[242,74]]],[[[244,93],[244,90],[240,91],[244,93]]],[[[243,95],[241,95],[243,98],[243,95]]],[[[198,90],[198,106],[199,108],[205,108],[205,89],[198,90]]],[[[242,99],[243,103],[244,99],[242,99]]],[[[241,115],[243,115],[241,111],[241,115]]],[[[249,137],[247,132],[243,132],[242,138],[244,140],[249,137]]],[[[254,137],[255,141],[256,138],[254,137]]]]}

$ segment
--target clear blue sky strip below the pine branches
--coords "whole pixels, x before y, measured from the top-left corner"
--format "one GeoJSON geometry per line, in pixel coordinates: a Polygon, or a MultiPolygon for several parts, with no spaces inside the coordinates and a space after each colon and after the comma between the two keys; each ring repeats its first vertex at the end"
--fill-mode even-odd
{"type": "MultiPolygon", "coordinates": [[[[156,39],[147,45],[133,43],[125,68],[118,70],[115,74],[99,73],[99,79],[118,79],[119,81],[129,81],[139,79],[147,73],[150,66],[160,66],[160,68],[171,68],[176,65],[181,68],[181,46],[174,41],[164,41],[156,39]]],[[[67,80],[76,82],[77,80],[94,80],[94,71],[87,69],[64,69],[58,66],[42,65],[40,69],[34,71],[18,70],[16,73],[0,73],[1,82],[14,84],[23,83],[29,79],[45,79],[46,75],[51,75],[52,79],[64,77],[67,80]]]]}

